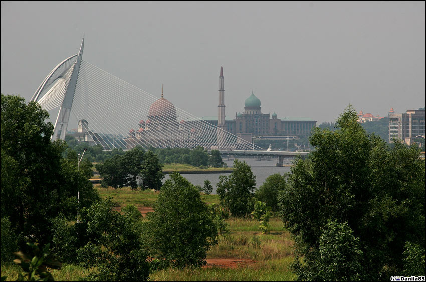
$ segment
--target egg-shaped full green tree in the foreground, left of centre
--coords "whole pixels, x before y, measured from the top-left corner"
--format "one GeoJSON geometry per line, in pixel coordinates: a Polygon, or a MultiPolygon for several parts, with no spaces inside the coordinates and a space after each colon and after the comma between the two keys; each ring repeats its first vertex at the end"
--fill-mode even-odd
{"type": "Polygon", "coordinates": [[[145,231],[151,257],[163,266],[203,266],[217,229],[198,190],[173,172],[165,181],[145,231]]]}

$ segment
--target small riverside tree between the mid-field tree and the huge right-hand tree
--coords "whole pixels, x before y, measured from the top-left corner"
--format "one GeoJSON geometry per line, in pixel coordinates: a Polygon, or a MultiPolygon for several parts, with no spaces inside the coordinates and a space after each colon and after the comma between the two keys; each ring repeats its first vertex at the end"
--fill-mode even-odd
{"type": "Polygon", "coordinates": [[[255,198],[258,201],[266,203],[272,208],[273,212],[278,211],[278,193],[286,188],[287,174],[272,174],[266,178],[265,182],[255,192],[255,198]]]}

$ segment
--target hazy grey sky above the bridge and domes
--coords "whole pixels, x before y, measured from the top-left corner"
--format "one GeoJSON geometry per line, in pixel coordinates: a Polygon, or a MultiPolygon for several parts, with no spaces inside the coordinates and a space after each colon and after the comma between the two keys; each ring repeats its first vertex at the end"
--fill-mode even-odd
{"type": "MultiPolygon", "coordinates": [[[[196,116],[334,121],[425,105],[425,2],[1,2],[1,92],[28,101],[76,54],[196,116]]],[[[73,126],[69,126],[72,128],[73,126]]]]}

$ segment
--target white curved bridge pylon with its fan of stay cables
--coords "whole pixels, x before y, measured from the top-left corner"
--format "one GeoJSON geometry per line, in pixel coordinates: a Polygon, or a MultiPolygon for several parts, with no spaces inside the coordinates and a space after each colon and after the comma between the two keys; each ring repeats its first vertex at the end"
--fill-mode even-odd
{"type": "MultiPolygon", "coordinates": [[[[59,63],[31,101],[58,110],[52,139],[65,140],[70,113],[79,120],[80,136],[104,149],[194,148],[262,150],[262,148],[175,107],[163,97],[82,60],[80,51],[59,63]],[[218,144],[218,133],[222,136],[218,144]]],[[[167,97],[167,95],[166,95],[167,97]]],[[[173,97],[167,97],[173,100],[173,97]]]]}

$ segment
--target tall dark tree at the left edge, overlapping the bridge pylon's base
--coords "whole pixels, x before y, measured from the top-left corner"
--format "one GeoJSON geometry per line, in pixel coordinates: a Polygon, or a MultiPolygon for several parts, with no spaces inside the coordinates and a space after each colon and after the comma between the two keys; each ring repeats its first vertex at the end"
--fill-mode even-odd
{"type": "Polygon", "coordinates": [[[62,212],[77,215],[77,192],[81,206],[98,199],[77,159],[63,158],[65,143],[52,142],[49,114],[36,102],[26,105],[17,96],[1,95],[1,204],[2,217],[9,217],[20,248],[26,238],[45,245],[51,241],[51,220],[62,212]]]}

